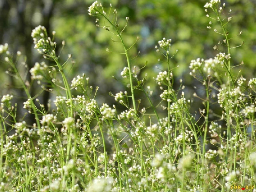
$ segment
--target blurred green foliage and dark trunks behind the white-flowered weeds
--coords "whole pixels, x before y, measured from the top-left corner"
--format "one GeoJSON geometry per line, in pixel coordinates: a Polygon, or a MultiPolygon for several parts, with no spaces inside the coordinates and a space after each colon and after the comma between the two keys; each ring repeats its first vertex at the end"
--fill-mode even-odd
{"type": "MultiPolygon", "coordinates": [[[[160,89],[156,86],[153,77],[159,72],[155,66],[167,70],[159,53],[156,53],[155,45],[163,37],[172,39],[172,54],[178,50],[171,60],[172,67],[179,65],[174,70],[175,86],[179,87],[180,79],[187,97],[192,97],[196,81],[189,76],[189,63],[198,57],[208,59],[214,57],[219,52],[225,52],[223,47],[214,50],[213,46],[223,40],[223,36],[216,34],[213,29],[220,29],[213,20],[206,17],[204,11],[205,0],[111,0],[98,1],[102,3],[108,11],[110,3],[112,11],[118,12],[118,23],[120,28],[124,26],[125,17],[129,17],[128,26],[124,30],[124,41],[132,45],[139,36],[140,40],[129,51],[130,57],[139,56],[132,60],[132,66],[143,67],[147,62],[147,67],[143,68],[138,75],[139,79],[148,74],[146,86],[151,86],[154,90],[152,99],[158,100],[160,89]],[[212,21],[212,29],[207,29],[209,21],[212,21]]],[[[129,91],[122,83],[120,72],[126,66],[125,56],[106,52],[106,48],[113,52],[122,50],[121,44],[115,43],[111,38],[116,37],[107,30],[95,26],[96,18],[88,15],[88,7],[93,3],[89,0],[1,0],[0,1],[0,44],[7,42],[10,50],[15,53],[21,51],[26,56],[26,63],[29,68],[33,67],[36,61],[43,61],[33,48],[31,31],[38,25],[47,28],[48,35],[52,35],[52,30],[56,31],[55,41],[58,43],[57,52],[60,51],[61,42],[65,40],[66,45],[61,54],[62,63],[72,54],[72,61],[66,68],[68,79],[72,80],[76,75],[85,73],[90,78],[90,85],[99,86],[98,101],[116,104],[113,97],[109,96],[111,91],[114,95],[119,91],[129,91]],[[120,81],[115,80],[115,76],[120,81]]],[[[244,65],[239,66],[243,76],[253,77],[255,74],[255,53],[256,53],[256,1],[255,0],[226,0],[223,14],[227,17],[233,16],[228,24],[228,32],[231,47],[244,44],[236,49],[231,49],[232,65],[238,65],[242,61],[244,65]],[[232,10],[228,16],[229,10],[232,10]],[[243,33],[238,36],[239,32],[243,33]]],[[[215,17],[213,12],[208,12],[215,17]]],[[[49,65],[53,63],[48,62],[49,65]]],[[[6,63],[1,61],[0,65],[1,93],[12,93],[19,96],[17,102],[22,106],[25,101],[25,94],[21,89],[17,89],[19,84],[12,76],[5,74],[8,70],[6,63]],[[15,91],[14,91],[15,90],[15,91]],[[24,97],[24,98],[23,98],[24,97]]],[[[20,69],[22,72],[22,68],[20,69]]],[[[24,76],[26,71],[22,72],[24,76]]],[[[28,75],[27,80],[30,81],[28,75]]],[[[31,89],[31,94],[36,95],[40,90],[35,83],[31,89]]],[[[75,93],[74,93],[75,94],[75,93]]],[[[200,94],[199,94],[200,96],[200,94]]],[[[202,95],[201,95],[202,96],[202,95]]],[[[49,92],[44,92],[41,96],[42,102],[46,104],[52,96],[49,92]]],[[[55,99],[55,98],[52,98],[55,99]]],[[[142,106],[148,106],[143,96],[137,95],[136,99],[142,99],[142,106]],[[145,101],[145,104],[143,102],[145,101]]],[[[122,109],[122,106],[117,106],[122,109]]]]}

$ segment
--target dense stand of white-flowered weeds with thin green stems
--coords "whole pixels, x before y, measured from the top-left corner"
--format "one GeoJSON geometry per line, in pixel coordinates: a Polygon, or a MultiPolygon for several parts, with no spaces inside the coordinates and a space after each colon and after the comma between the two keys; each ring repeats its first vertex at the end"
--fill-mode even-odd
{"type": "Polygon", "coordinates": [[[89,15],[96,17],[96,26],[113,34],[116,44],[123,45],[118,53],[127,60],[120,72],[127,90],[110,93],[124,111],[99,104],[99,88],[90,86],[85,74],[68,81],[65,69],[71,55],[60,63],[55,31],[51,36],[43,26],[32,31],[36,50],[53,66],[36,62],[28,69],[21,52],[14,55],[8,44],[0,45],[1,58],[10,66],[6,74],[19,80],[27,99],[23,103],[27,112],[18,121],[15,95],[1,97],[0,191],[256,191],[256,78],[245,79],[233,69],[230,49],[234,47],[227,28],[231,10],[226,11],[220,0],[211,0],[204,8],[207,28],[218,26],[213,30],[223,38],[214,46],[222,50],[219,54],[189,65],[189,75],[202,84],[204,97],[194,93],[188,98],[182,81],[173,88],[172,70],[177,66],[170,55],[172,40],[163,38],[156,54],[164,58],[159,61],[165,68],[154,78],[162,93],[153,103],[148,77],[138,79],[140,69],[133,67],[129,54],[139,37],[132,45],[123,38],[129,18],[119,26],[117,10],[97,1],[89,7],[89,15]],[[26,79],[28,72],[31,81],[26,79]],[[41,92],[31,96],[34,83],[41,92]],[[148,108],[140,107],[134,90],[144,94],[148,108]],[[38,99],[43,91],[56,95],[47,111],[38,99]],[[194,97],[204,105],[197,110],[201,124],[190,111],[194,97]],[[216,115],[219,121],[209,118],[213,104],[221,108],[216,115]],[[33,125],[26,122],[27,113],[34,115],[33,125]]]}

